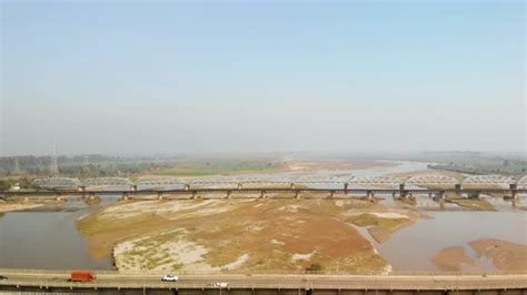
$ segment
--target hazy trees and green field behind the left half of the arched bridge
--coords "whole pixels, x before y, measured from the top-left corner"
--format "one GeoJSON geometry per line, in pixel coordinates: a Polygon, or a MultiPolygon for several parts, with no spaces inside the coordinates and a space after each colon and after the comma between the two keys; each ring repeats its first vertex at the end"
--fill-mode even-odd
{"type": "MultiPolygon", "coordinates": [[[[122,157],[102,155],[59,156],[60,175],[78,179],[169,175],[202,176],[247,172],[277,172],[284,170],[281,161],[245,159],[188,159],[188,157],[122,157]]],[[[0,177],[27,179],[50,176],[49,156],[4,156],[0,157],[0,177]]],[[[27,187],[28,185],[22,185],[27,187]]]]}

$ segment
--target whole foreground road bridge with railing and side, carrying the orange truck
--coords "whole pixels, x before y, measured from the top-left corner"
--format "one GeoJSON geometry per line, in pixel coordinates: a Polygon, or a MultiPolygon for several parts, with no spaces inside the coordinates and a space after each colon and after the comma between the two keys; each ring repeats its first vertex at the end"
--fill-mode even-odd
{"type": "MultiPolygon", "coordinates": [[[[180,274],[161,282],[162,274],[98,272],[93,283],[68,282],[67,271],[2,269],[0,292],[82,292],[105,294],[239,294],[239,295],[525,295],[527,274],[180,274]],[[219,288],[211,282],[228,283],[219,288]]],[[[34,293],[33,293],[34,294],[34,293]]]]}

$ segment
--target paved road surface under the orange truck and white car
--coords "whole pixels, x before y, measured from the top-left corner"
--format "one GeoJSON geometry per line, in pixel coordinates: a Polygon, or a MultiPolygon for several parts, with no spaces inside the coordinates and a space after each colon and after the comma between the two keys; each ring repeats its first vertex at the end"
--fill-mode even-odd
{"type": "Polygon", "coordinates": [[[212,282],[229,283],[228,288],[243,289],[527,289],[527,274],[510,275],[179,275],[178,282],[161,282],[162,275],[99,273],[93,283],[68,282],[63,271],[0,269],[8,277],[7,286],[38,286],[64,288],[215,288],[212,282]]]}

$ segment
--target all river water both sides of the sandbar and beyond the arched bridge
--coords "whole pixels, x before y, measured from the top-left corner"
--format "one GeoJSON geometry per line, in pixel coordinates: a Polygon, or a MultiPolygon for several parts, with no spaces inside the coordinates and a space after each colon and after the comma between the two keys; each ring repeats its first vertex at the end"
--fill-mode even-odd
{"type": "MultiPolygon", "coordinates": [[[[405,162],[398,166],[347,171],[360,176],[377,176],[388,173],[422,171],[426,163],[405,162]]],[[[0,268],[91,268],[112,269],[110,257],[95,260],[87,240],[77,231],[76,221],[80,216],[115,202],[103,197],[98,205],[87,205],[81,200],[70,200],[59,212],[10,212],[0,216],[0,268]]],[[[438,251],[449,246],[464,246],[477,238],[499,238],[527,244],[527,212],[503,200],[489,199],[499,212],[468,212],[447,206],[439,211],[437,203],[418,199],[418,208],[426,211],[430,218],[420,218],[412,226],[394,233],[384,244],[377,244],[367,236],[395,271],[438,271],[430,258],[438,251]]],[[[382,201],[388,206],[397,206],[391,197],[382,201]]],[[[527,203],[523,196],[521,204],[527,203]]],[[[493,269],[479,258],[478,269],[493,269]]]]}

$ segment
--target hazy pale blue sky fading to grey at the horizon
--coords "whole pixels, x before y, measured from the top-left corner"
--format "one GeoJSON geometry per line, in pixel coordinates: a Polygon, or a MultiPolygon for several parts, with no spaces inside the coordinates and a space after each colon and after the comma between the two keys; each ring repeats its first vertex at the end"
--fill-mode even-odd
{"type": "Polygon", "coordinates": [[[73,2],[1,1],[3,155],[525,149],[524,1],[73,2]]]}

